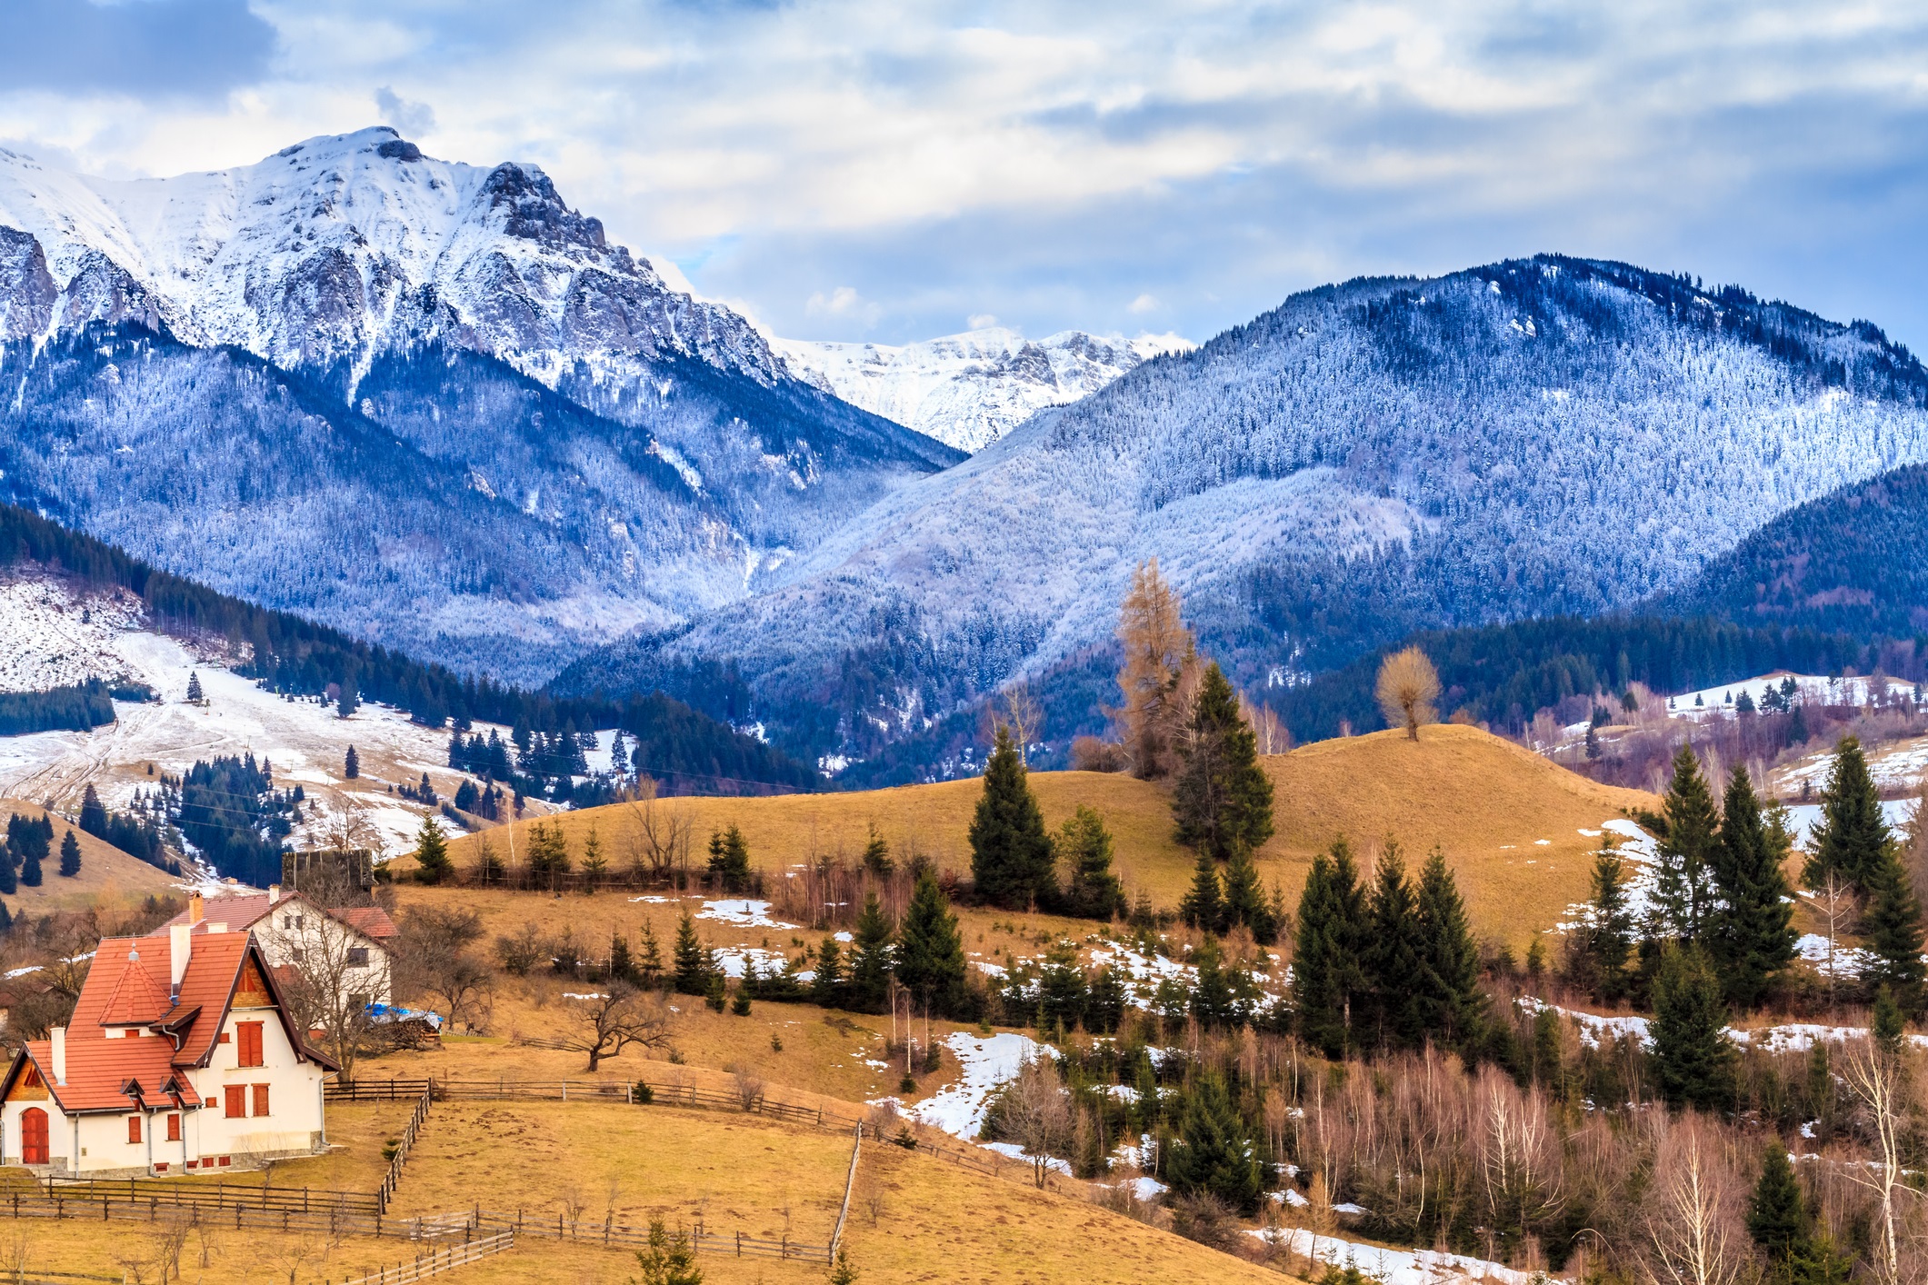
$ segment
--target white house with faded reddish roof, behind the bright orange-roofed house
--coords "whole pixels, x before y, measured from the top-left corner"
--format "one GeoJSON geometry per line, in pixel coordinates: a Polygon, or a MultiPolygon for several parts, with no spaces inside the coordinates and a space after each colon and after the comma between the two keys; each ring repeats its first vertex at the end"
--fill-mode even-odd
{"type": "Polygon", "coordinates": [[[339,988],[347,1000],[395,1002],[395,959],[389,952],[395,921],[380,905],[322,909],[301,892],[283,892],[274,884],[266,892],[195,894],[168,927],[183,923],[195,932],[253,932],[270,967],[308,965],[310,977],[320,975],[324,988],[339,988]]]}

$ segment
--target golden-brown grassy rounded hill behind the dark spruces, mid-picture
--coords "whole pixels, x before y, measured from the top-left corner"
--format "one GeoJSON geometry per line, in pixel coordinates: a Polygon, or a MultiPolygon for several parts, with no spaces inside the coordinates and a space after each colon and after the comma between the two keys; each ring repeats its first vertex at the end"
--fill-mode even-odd
{"type": "MultiPolygon", "coordinates": [[[[1369,855],[1396,838],[1417,865],[1433,844],[1459,873],[1475,929],[1523,944],[1535,929],[1587,892],[1587,853],[1600,823],[1652,796],[1577,776],[1540,755],[1479,728],[1440,724],[1417,744],[1402,732],[1375,732],[1319,742],[1265,759],[1274,786],[1276,834],[1259,852],[1267,882],[1278,880],[1292,902],[1311,857],[1340,834],[1369,855]],[[1544,840],[1544,842],[1542,842],[1544,840]]],[[[1170,792],[1130,776],[1103,773],[1033,773],[1031,788],[1057,826],[1082,803],[1095,807],[1116,838],[1116,867],[1128,888],[1176,905],[1192,879],[1193,857],[1172,842],[1170,792]]],[[[754,861],[769,873],[819,853],[854,857],[875,826],[898,853],[929,853],[939,867],[970,867],[970,819],[983,786],[951,780],[864,794],[781,798],[692,798],[657,803],[694,826],[692,861],[713,828],[736,825],[754,861]]],[[[613,869],[623,869],[640,840],[642,807],[617,803],[559,819],[571,852],[596,828],[613,869]]],[[[515,844],[526,846],[526,826],[515,844]]],[[[492,832],[499,852],[507,834],[492,832]]],[[[455,861],[470,859],[474,838],[455,844],[455,861]]],[[[399,869],[411,863],[401,861],[399,869]]]]}

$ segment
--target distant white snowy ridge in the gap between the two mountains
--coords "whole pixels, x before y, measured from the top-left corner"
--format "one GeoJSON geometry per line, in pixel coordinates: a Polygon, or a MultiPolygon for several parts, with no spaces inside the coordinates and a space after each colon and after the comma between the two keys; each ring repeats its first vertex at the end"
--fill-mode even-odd
{"type": "Polygon", "coordinates": [[[891,347],[775,339],[790,370],[825,393],[960,451],[981,451],[1045,406],[1062,406],[1165,353],[1188,353],[1178,335],[1087,335],[1066,329],[1026,339],[989,326],[891,347]]]}

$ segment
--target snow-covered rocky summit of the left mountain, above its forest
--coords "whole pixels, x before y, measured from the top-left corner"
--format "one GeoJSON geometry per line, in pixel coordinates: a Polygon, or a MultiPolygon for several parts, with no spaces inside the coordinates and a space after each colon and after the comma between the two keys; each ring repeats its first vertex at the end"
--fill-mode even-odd
{"type": "Polygon", "coordinates": [[[669,291],[540,168],[436,160],[386,125],[168,179],[0,156],[0,339],[129,318],[289,368],[445,339],[551,385],[665,356],[781,378],[742,318],[669,291]]]}

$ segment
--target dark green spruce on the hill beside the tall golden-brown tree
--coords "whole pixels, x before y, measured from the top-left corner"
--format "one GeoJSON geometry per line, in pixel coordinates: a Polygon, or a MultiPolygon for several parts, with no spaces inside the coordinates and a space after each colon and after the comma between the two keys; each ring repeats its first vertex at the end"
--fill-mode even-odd
{"type": "Polygon", "coordinates": [[[1272,836],[1272,782],[1217,661],[1205,667],[1190,744],[1180,755],[1184,767],[1172,786],[1180,844],[1226,861],[1240,846],[1257,848],[1272,836]]]}

